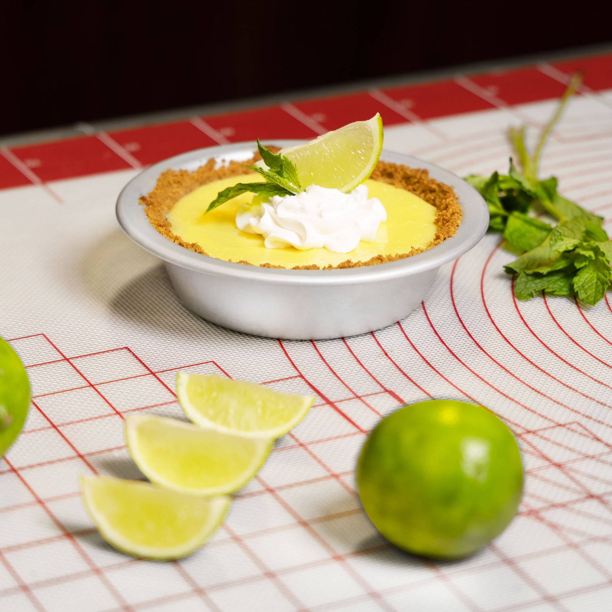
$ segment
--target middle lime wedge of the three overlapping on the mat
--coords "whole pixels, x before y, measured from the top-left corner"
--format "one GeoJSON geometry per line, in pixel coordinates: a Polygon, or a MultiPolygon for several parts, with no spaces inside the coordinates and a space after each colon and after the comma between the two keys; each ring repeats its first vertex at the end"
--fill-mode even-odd
{"type": "Polygon", "coordinates": [[[151,482],[195,495],[244,487],[274,446],[274,438],[245,438],[151,415],[127,417],[125,440],[151,482]]]}

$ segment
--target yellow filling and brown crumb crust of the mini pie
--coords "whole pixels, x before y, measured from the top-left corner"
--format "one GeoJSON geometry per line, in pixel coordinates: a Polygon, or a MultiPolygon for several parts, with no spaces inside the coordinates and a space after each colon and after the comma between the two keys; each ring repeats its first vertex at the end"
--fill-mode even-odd
{"type": "Polygon", "coordinates": [[[258,175],[243,164],[259,159],[259,154],[246,162],[218,164],[211,159],[193,172],[166,170],[140,203],[155,230],[184,248],[249,266],[288,269],[373,266],[403,259],[452,237],[461,223],[461,206],[452,187],[432,179],[427,170],[379,161],[366,181],[369,197],[378,198],[387,209],[387,222],[379,226],[375,242],[359,242],[349,253],[266,248],[262,236],[242,232],[234,222],[239,206],[250,202],[253,194],[237,196],[204,215],[222,188],[257,180],[258,175]]]}

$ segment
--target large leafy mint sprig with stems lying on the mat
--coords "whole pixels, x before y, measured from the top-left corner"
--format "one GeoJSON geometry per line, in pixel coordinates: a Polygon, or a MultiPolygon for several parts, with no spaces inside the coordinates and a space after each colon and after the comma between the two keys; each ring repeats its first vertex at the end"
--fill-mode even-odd
{"type": "Polygon", "coordinates": [[[526,127],[509,130],[520,168],[511,158],[508,174],[466,177],[487,202],[489,230],[501,233],[510,250],[523,253],[505,266],[508,274],[515,275],[514,294],[520,300],[544,291],[552,296],[577,296],[594,305],[612,282],[612,241],[603,230],[603,218],[559,195],[554,176],[543,181],[537,177],[547,138],[581,80],[581,73],[573,75],[533,154],[525,145],[526,127]],[[534,207],[556,225],[529,215],[534,207]]]}

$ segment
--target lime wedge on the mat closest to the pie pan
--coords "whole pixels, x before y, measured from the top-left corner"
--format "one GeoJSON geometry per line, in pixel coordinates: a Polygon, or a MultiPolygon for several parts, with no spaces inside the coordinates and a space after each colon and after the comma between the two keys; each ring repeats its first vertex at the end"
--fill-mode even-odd
{"type": "Polygon", "coordinates": [[[312,396],[278,393],[259,384],[185,372],[176,376],[176,394],[197,425],[259,438],[285,435],[315,401],[312,396]]]}

